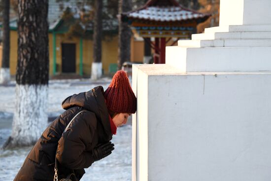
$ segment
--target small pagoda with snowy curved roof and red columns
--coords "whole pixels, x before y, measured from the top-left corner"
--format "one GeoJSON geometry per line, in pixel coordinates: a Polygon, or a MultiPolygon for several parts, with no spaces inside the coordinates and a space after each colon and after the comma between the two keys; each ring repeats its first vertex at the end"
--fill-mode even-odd
{"type": "Polygon", "coordinates": [[[128,22],[133,33],[143,37],[154,49],[154,63],[165,64],[169,40],[176,39],[172,46],[179,39],[189,39],[197,33],[197,25],[209,16],[184,8],[175,0],[149,0],[136,10],[122,13],[121,19],[128,22]],[[154,37],[154,43],[150,37],[154,37]]]}

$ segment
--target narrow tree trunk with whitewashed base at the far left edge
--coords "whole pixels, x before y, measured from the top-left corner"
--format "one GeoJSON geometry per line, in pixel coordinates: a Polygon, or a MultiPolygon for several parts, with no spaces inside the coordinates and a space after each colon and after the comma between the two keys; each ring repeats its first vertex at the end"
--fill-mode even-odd
{"type": "Polygon", "coordinates": [[[2,67],[0,70],[0,83],[7,84],[10,80],[9,70],[9,50],[10,50],[10,36],[9,36],[9,0],[2,0],[3,7],[3,49],[2,49],[2,67]]]}

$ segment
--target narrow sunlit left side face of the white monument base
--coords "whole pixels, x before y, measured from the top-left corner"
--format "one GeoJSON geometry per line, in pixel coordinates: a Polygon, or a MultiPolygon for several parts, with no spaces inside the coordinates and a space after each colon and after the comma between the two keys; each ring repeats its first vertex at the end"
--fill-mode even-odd
{"type": "Polygon", "coordinates": [[[134,71],[133,91],[137,97],[137,110],[133,114],[132,177],[134,181],[148,179],[148,79],[140,71],[134,71]],[[141,87],[141,88],[138,88],[141,87]],[[142,89],[144,88],[144,89],[142,89]],[[140,102],[140,104],[139,104],[140,102]],[[140,119],[140,121],[138,121],[140,119]]]}

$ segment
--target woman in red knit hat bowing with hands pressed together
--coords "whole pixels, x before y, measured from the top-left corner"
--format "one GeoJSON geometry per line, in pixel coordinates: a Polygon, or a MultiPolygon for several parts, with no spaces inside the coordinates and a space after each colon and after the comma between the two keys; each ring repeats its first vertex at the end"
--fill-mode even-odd
{"type": "Polygon", "coordinates": [[[118,71],[105,92],[98,86],[74,94],[62,107],[66,111],[42,133],[14,181],[53,181],[55,158],[58,180],[71,173],[80,180],[84,168],[111,154],[112,135],[135,113],[136,98],[126,72],[118,71]]]}

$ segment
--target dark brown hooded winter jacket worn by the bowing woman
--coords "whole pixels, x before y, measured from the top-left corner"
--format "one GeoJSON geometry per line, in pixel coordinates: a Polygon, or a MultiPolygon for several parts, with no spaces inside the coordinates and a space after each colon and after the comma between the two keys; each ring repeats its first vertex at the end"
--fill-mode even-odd
{"type": "Polygon", "coordinates": [[[81,179],[84,168],[94,162],[92,149],[112,139],[102,86],[68,97],[62,107],[66,111],[42,133],[14,181],[53,181],[57,148],[58,179],[72,170],[81,179]],[[87,111],[77,115],[63,134],[69,121],[81,110],[87,111]]]}

